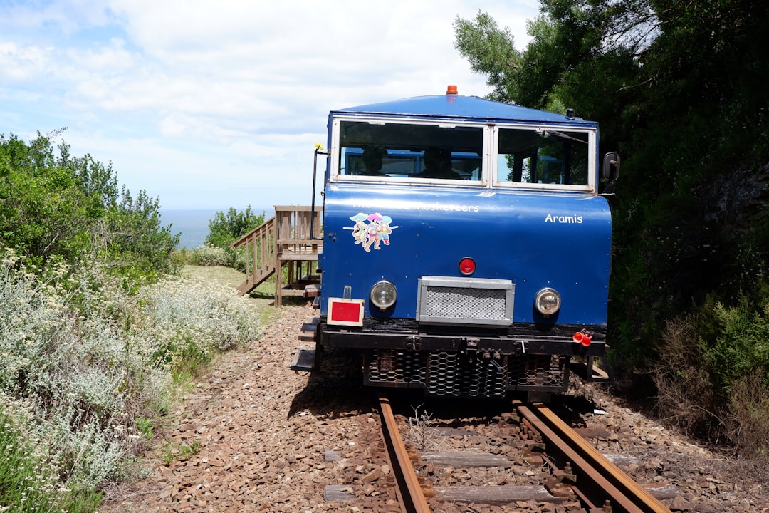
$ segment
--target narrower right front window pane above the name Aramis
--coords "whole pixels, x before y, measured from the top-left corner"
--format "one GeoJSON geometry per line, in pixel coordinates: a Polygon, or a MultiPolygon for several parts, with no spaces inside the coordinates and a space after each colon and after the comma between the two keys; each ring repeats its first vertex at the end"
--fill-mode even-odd
{"type": "Polygon", "coordinates": [[[498,141],[498,183],[588,185],[588,132],[500,128],[498,141]]]}

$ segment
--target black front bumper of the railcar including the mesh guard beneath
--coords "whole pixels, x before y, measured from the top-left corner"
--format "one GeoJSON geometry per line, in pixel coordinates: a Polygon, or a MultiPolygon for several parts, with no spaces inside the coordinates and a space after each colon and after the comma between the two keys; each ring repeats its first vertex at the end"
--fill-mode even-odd
{"type": "MultiPolygon", "coordinates": [[[[515,333],[427,333],[420,331],[328,330],[319,326],[325,348],[353,348],[364,356],[365,385],[424,388],[427,395],[502,397],[508,391],[568,389],[573,356],[589,361],[604,354],[601,332],[590,345],[575,343],[574,327],[515,333]]],[[[391,328],[391,327],[390,327],[391,328]]],[[[584,329],[584,327],[578,327],[584,329]]]]}

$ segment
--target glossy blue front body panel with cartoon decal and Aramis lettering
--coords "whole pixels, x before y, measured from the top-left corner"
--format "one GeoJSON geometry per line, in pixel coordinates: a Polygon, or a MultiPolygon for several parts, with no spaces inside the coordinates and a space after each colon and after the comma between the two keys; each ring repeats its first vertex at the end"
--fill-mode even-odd
{"type": "MultiPolygon", "coordinates": [[[[332,185],[325,212],[321,268],[335,269],[323,275],[325,296],[341,297],[350,285],[352,297],[366,298],[386,279],[398,288],[387,315],[413,319],[417,278],[461,277],[458,263],[470,256],[478,265],[473,278],[514,282],[513,321],[534,322],[531,298],[554,287],[563,306],[549,321],[606,324],[611,212],[600,196],[332,185]],[[388,240],[369,245],[365,228],[355,230],[361,214],[390,218],[388,240]]],[[[321,308],[326,315],[322,302],[321,308]]],[[[365,316],[383,315],[368,301],[365,308],[365,316]]]]}

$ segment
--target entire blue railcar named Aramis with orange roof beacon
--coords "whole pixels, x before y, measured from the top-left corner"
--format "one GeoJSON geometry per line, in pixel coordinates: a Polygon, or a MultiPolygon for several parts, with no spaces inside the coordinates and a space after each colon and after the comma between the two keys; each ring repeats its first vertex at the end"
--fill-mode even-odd
{"type": "MultiPolygon", "coordinates": [[[[604,354],[611,212],[598,124],[477,97],[332,111],[315,350],[367,385],[529,398],[604,354]],[[602,162],[601,162],[602,161],[602,162]],[[578,358],[575,358],[578,357],[578,358]]],[[[317,152],[316,152],[317,157],[317,152]]]]}

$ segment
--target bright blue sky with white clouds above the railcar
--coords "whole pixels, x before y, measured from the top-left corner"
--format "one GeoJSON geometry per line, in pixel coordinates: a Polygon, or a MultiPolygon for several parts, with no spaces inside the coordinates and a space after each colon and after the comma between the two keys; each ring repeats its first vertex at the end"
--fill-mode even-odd
{"type": "Polygon", "coordinates": [[[454,48],[487,12],[530,40],[538,0],[0,0],[0,134],[66,130],[161,209],[308,205],[328,112],[491,91],[454,48]]]}

